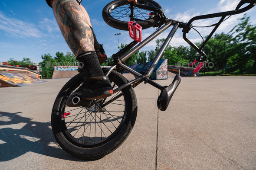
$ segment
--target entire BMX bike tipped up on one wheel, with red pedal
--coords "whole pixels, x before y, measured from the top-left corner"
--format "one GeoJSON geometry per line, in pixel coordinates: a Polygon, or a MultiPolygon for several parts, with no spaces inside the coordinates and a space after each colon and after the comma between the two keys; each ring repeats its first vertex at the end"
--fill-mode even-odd
{"type": "Polygon", "coordinates": [[[200,63],[195,70],[195,72],[198,72],[203,64],[207,62],[203,47],[218,26],[227,19],[226,16],[243,13],[255,5],[256,0],[241,0],[233,11],[196,16],[185,23],[166,18],[161,6],[152,0],[138,0],[138,4],[128,3],[127,0],[114,0],[108,3],[103,9],[102,16],[108,25],[116,29],[129,30],[129,23],[130,33],[136,34],[138,31],[141,37],[141,29],[151,26],[159,28],[138,45],[136,44],[140,40],[138,40],[137,35],[134,36],[135,41],[112,55],[114,61],[112,67],[103,68],[105,75],[112,83],[112,96],[94,100],[76,99],[73,100],[73,104],[79,105],[79,107],[68,107],[66,106],[66,100],[82,85],[84,73],[75,75],[62,87],[54,102],[51,116],[53,135],[58,144],[67,153],[81,159],[96,159],[115,151],[128,138],[135,125],[137,100],[134,88],[144,82],[161,90],[157,105],[158,109],[165,111],[181,82],[179,75],[174,77],[170,86],[164,87],[149,79],[176,30],[181,28],[184,40],[200,54],[194,61],[194,63],[196,61],[200,63]],[[245,3],[249,3],[249,5],[240,9],[245,3]],[[149,12],[150,15],[148,15],[149,12]],[[186,37],[186,34],[193,28],[192,22],[214,17],[221,18],[219,22],[211,25],[214,27],[213,30],[202,45],[197,47],[186,37]],[[170,26],[173,26],[171,32],[144,75],[123,64],[126,59],[170,26]],[[124,71],[135,75],[136,78],[128,81],[122,75],[124,71]]]}

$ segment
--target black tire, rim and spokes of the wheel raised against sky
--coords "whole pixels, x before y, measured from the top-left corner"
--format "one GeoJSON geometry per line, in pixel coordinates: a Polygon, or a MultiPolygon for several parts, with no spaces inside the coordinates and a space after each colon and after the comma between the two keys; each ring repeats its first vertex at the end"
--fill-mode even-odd
{"type": "MultiPolygon", "coordinates": [[[[154,2],[153,0],[138,0],[138,3],[147,4],[147,5],[162,9],[161,6],[158,3],[154,2]]],[[[129,5],[129,2],[127,0],[114,0],[110,3],[108,3],[102,11],[102,17],[103,17],[104,21],[109,26],[112,26],[115,29],[121,29],[121,30],[128,31],[128,22],[129,21],[126,22],[126,21],[121,21],[121,20],[115,19],[113,16],[115,16],[116,14],[112,16],[113,10],[117,9],[118,7],[124,8],[125,5],[129,5]]],[[[138,8],[138,7],[135,7],[135,8],[138,8]]],[[[142,10],[142,9],[140,9],[140,10],[142,10]]],[[[128,13],[128,11],[126,11],[126,12],[128,13]]],[[[143,15],[143,14],[140,13],[139,15],[143,15]]],[[[118,17],[118,16],[116,16],[116,17],[118,17]]],[[[151,26],[156,25],[160,19],[160,17],[157,15],[154,15],[152,18],[148,18],[148,19],[145,16],[143,16],[143,17],[144,17],[144,20],[134,21],[134,22],[137,22],[142,27],[142,29],[147,29],[151,26]]],[[[148,17],[149,17],[149,15],[148,15],[148,17]]],[[[129,18],[129,16],[128,16],[128,18],[129,18]]]]}

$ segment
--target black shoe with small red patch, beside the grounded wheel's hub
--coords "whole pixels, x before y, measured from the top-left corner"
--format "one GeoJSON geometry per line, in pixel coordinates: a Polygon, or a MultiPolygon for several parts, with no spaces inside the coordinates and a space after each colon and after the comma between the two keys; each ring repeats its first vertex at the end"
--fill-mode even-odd
{"type": "Polygon", "coordinates": [[[77,107],[72,103],[72,98],[75,96],[86,100],[92,100],[106,98],[112,94],[113,89],[108,77],[84,77],[83,85],[69,96],[66,105],[77,107]]]}

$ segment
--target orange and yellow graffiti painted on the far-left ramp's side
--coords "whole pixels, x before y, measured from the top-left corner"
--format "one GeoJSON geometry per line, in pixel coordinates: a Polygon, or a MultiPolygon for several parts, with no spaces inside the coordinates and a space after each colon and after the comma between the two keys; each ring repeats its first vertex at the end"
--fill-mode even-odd
{"type": "Polygon", "coordinates": [[[26,86],[45,82],[32,75],[22,73],[0,73],[0,80],[16,86],[26,86]]]}

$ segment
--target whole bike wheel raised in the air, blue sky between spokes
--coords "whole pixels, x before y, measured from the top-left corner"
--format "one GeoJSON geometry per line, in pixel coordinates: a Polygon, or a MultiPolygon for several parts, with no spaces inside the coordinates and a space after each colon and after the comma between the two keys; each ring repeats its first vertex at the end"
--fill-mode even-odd
{"type": "MultiPolygon", "coordinates": [[[[153,0],[138,0],[138,4],[162,9],[153,0]]],[[[127,0],[114,0],[104,7],[102,17],[109,26],[128,31],[129,21],[137,22],[142,29],[156,25],[160,18],[158,15],[151,14],[152,12],[154,11],[141,9],[127,0]]]]}

